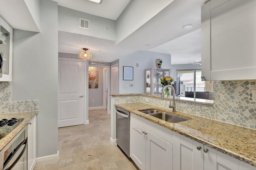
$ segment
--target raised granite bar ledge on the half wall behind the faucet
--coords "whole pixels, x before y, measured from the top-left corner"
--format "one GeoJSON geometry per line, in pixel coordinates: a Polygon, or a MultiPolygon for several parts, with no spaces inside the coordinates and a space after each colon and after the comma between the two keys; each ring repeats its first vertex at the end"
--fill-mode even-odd
{"type": "MultiPolygon", "coordinates": [[[[148,96],[148,97],[154,97],[161,99],[161,95],[150,95],[150,94],[143,94],[143,93],[129,93],[129,94],[110,94],[110,96],[117,97],[117,96],[148,96]]],[[[172,97],[166,97],[164,99],[172,100],[172,97]]],[[[179,97],[175,96],[176,101],[184,101],[184,102],[190,102],[190,103],[197,103],[202,105],[213,105],[213,100],[206,100],[206,99],[194,99],[191,97],[179,97]]]]}

